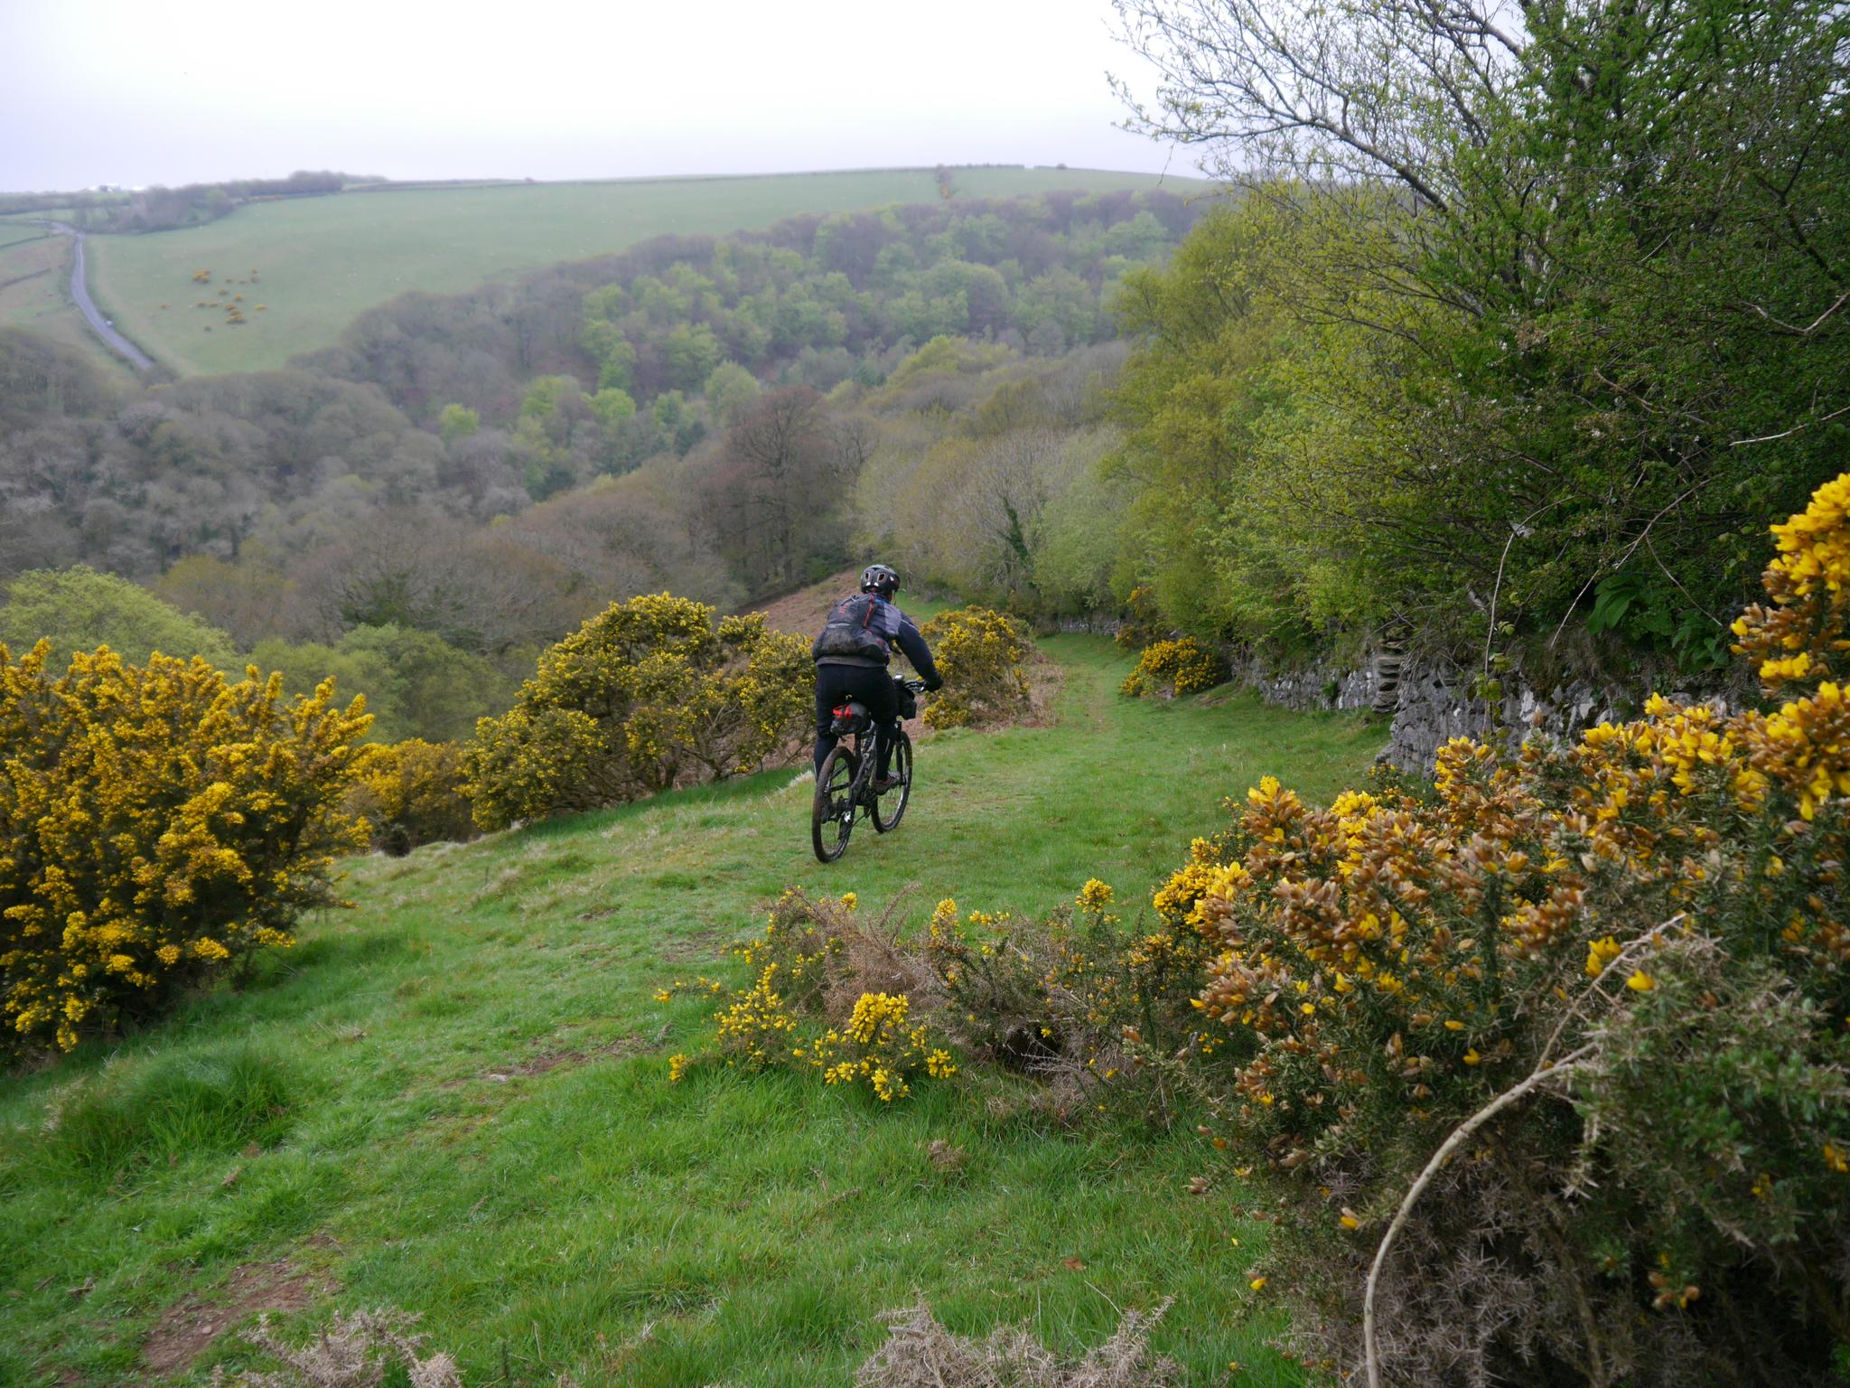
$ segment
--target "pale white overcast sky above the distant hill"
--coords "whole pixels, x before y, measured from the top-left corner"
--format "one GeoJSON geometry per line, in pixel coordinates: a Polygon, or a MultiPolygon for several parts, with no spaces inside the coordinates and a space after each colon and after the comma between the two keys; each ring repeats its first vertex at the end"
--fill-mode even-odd
{"type": "Polygon", "coordinates": [[[1145,68],[1108,20],[1106,0],[0,0],[0,189],[1193,172],[1114,128],[1106,70],[1145,68]]]}

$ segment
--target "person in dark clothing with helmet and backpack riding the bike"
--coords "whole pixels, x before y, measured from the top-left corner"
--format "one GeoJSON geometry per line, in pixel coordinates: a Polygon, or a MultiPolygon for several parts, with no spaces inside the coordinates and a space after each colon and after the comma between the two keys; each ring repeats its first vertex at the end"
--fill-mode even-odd
{"type": "Polygon", "coordinates": [[[912,618],[894,607],[899,574],[886,564],[868,564],[860,574],[860,592],[829,609],[829,620],[810,648],[816,657],[816,774],[836,744],[831,729],[834,711],[860,700],[881,729],[881,764],[875,792],[892,788],[894,742],[899,738],[899,688],[886,666],[894,644],[918,670],[925,688],[942,688],[931,646],[912,618]]]}

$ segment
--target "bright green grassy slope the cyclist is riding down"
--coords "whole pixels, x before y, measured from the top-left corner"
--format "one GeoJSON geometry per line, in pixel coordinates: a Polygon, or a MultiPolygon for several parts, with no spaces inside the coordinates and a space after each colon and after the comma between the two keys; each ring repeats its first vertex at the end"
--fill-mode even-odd
{"type": "MultiPolygon", "coordinates": [[[[1247,1308],[1258,1238],[1228,1216],[1238,1192],[1184,1194],[1193,1136],[1053,1133],[995,1077],[921,1083],[884,1110],[786,1075],[666,1083],[703,1009],[664,1010],[653,988],[736,979],[716,946],[784,885],[855,890],[866,911],[916,883],[912,923],[945,894],[1042,912],[1088,875],[1134,901],[1225,822],[1225,794],[1278,772],[1328,796],[1378,742],[1245,696],[1127,703],[1108,642],[1047,648],[1066,666],[1056,725],[932,738],[897,835],[857,837],[832,868],[808,855],[790,772],[364,861],[359,909],[307,925],[253,986],[107,1062],[0,1083],[0,1382],[137,1381],[165,1307],[283,1257],[344,1305],[424,1310],[472,1384],[503,1382],[503,1364],[586,1388],[845,1384],[875,1316],[916,1294],[953,1329],[1029,1320],[1067,1349],[1103,1338],[1114,1303],[1175,1295],[1158,1345],[1193,1382],[1234,1358],[1254,1366],[1241,1384],[1293,1382],[1247,1308]],[[85,1131],[150,1151],[120,1184],[118,1155],[72,1166],[76,1129],[28,1140],[70,1084],[157,1096],[239,1047],[281,1059],[285,1116],[233,1131],[168,1101],[163,1142],[154,1097],[118,1105],[142,1127],[85,1131]],[[964,1171],[929,1162],[932,1138],[968,1147],[964,1171]]],[[[200,1375],[231,1353],[220,1342],[200,1375]]]]}

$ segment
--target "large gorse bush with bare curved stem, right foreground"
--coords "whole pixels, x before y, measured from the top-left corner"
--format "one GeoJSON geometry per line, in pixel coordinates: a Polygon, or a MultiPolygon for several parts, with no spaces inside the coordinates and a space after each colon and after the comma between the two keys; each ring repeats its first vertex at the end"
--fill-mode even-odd
{"type": "Polygon", "coordinates": [[[1774,527],[1733,627],[1769,711],[1456,740],[1428,796],[1267,779],[1158,898],[1214,942],[1190,1066],[1314,1360],[1819,1382],[1850,1344],[1846,511],[1774,527]]]}

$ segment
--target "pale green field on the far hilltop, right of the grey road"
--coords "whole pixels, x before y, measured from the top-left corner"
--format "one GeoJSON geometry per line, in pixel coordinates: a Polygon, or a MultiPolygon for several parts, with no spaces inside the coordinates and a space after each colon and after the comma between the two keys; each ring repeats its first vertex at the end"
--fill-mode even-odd
{"type": "MultiPolygon", "coordinates": [[[[1084,168],[958,168],[953,183],[964,198],[1208,187],[1084,168]]],[[[91,292],[178,372],[268,370],[331,346],[355,315],[405,291],[457,292],[670,231],[742,231],[799,213],[936,198],[929,168],[346,192],[240,207],[185,231],[91,237],[91,292]],[[213,281],[194,283],[196,270],[211,270],[213,281]],[[192,307],[216,304],[220,289],[244,296],[244,326],[192,307]]]]}

